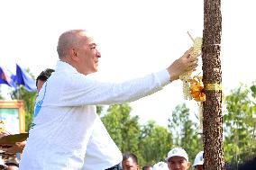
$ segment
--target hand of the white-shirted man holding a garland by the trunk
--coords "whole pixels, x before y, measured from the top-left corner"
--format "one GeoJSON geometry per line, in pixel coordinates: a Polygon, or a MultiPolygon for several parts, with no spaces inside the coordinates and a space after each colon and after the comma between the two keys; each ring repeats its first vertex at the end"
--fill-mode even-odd
{"type": "Polygon", "coordinates": [[[198,54],[197,56],[190,56],[190,52],[193,48],[188,49],[181,58],[176,59],[168,68],[170,81],[177,80],[180,75],[187,71],[195,71],[198,61],[198,56],[201,54],[198,54]]]}

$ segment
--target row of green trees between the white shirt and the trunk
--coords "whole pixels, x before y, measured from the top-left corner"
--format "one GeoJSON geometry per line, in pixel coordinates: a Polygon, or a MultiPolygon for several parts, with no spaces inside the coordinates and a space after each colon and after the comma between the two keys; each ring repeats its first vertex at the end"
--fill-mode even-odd
{"type": "Polygon", "coordinates": [[[169,119],[169,129],[148,121],[141,126],[139,117],[130,115],[131,107],[126,104],[111,105],[102,117],[106,130],[122,152],[135,154],[140,165],[164,161],[174,146],[187,150],[190,160],[203,149],[196,123],[190,120],[186,105],[178,105],[169,119]],[[170,130],[170,132],[169,132],[170,130]]]}

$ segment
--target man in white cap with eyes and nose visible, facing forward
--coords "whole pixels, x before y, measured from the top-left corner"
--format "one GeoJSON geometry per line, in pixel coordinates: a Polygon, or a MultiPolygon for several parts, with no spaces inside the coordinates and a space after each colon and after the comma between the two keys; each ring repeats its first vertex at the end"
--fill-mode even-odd
{"type": "Polygon", "coordinates": [[[173,148],[166,158],[169,170],[187,170],[190,166],[187,152],[183,148],[173,148]]]}

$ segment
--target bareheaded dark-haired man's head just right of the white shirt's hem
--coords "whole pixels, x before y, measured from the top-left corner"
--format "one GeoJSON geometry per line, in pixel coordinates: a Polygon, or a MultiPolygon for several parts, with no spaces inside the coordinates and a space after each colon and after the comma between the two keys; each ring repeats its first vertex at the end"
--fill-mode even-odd
{"type": "Polygon", "coordinates": [[[124,153],[122,167],[123,170],[139,170],[138,158],[132,153],[124,153]]]}

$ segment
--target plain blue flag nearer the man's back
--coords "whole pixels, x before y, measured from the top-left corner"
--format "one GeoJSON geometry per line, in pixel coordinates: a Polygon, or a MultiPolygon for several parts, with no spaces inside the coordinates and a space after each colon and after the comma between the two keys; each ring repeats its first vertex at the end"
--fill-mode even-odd
{"type": "Polygon", "coordinates": [[[26,90],[29,92],[36,91],[35,80],[17,64],[15,82],[17,85],[24,85],[26,90]]]}

